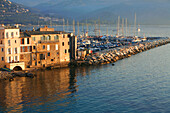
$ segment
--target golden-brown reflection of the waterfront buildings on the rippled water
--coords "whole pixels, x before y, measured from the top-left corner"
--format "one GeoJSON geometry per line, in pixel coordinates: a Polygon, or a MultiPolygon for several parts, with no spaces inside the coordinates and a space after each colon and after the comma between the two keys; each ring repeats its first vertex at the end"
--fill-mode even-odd
{"type": "MultiPolygon", "coordinates": [[[[27,106],[32,107],[54,103],[66,96],[74,96],[76,69],[38,71],[36,78],[15,78],[15,81],[0,82],[0,111],[21,112],[27,106]]],[[[69,104],[64,102],[58,104],[69,104]]]]}

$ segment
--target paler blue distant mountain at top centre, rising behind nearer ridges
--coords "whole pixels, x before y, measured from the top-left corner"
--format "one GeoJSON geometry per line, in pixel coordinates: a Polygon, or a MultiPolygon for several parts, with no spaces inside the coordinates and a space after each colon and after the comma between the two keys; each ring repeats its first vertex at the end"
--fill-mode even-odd
{"type": "Polygon", "coordinates": [[[76,18],[109,6],[112,0],[51,0],[46,3],[34,6],[43,13],[51,15],[60,15],[64,18],[76,18]]]}

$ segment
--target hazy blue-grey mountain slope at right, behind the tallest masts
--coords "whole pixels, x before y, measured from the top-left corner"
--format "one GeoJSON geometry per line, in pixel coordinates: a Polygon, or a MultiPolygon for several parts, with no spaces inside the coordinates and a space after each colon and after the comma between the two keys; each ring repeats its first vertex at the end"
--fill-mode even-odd
{"type": "Polygon", "coordinates": [[[115,4],[106,8],[93,11],[86,15],[88,19],[100,17],[113,21],[118,16],[127,18],[130,24],[137,15],[139,24],[170,24],[170,4],[166,2],[128,2],[115,4]]]}

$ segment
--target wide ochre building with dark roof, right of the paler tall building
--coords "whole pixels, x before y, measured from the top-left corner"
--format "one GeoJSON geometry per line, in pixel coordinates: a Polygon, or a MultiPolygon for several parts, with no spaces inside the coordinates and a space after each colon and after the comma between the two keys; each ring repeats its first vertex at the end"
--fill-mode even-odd
{"type": "Polygon", "coordinates": [[[27,67],[68,64],[70,39],[71,33],[54,31],[47,26],[36,31],[22,32],[20,61],[24,61],[27,67]]]}

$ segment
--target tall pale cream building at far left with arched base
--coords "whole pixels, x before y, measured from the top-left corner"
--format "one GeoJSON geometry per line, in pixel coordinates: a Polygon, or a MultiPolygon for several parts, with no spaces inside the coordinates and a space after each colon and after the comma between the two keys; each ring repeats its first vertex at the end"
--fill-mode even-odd
{"type": "MultiPolygon", "coordinates": [[[[20,59],[20,30],[15,27],[0,28],[0,67],[10,69],[19,66],[20,59]],[[15,66],[16,64],[16,66],[15,66]]],[[[20,67],[25,69],[24,63],[20,67]]]]}

